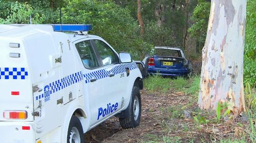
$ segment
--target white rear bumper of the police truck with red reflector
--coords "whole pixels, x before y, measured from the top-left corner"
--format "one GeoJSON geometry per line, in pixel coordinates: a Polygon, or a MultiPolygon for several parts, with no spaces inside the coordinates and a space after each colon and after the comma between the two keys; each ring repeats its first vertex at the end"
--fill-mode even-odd
{"type": "Polygon", "coordinates": [[[34,143],[35,131],[32,122],[6,122],[0,121],[0,142],[1,143],[34,143]],[[30,127],[24,130],[22,127],[30,127]]]}

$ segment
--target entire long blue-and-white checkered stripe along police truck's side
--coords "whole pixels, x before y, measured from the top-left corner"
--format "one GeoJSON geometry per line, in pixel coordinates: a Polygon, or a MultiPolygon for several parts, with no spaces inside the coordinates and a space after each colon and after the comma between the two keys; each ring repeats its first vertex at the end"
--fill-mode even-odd
{"type": "Polygon", "coordinates": [[[46,85],[45,92],[41,95],[36,96],[36,100],[41,99],[41,98],[46,98],[57,91],[60,91],[76,82],[83,80],[83,78],[85,79],[86,83],[89,83],[90,79],[92,79],[92,78],[96,78],[97,80],[99,80],[99,79],[103,79],[105,77],[109,77],[109,75],[111,73],[112,74],[124,73],[124,72],[126,72],[125,68],[134,70],[134,69],[138,68],[138,66],[136,65],[136,63],[128,63],[128,64],[116,66],[112,69],[101,69],[101,70],[86,73],[86,74],[82,74],[82,72],[79,71],[79,72],[68,75],[64,78],[58,79],[58,80],[46,85]],[[48,92],[46,92],[46,89],[48,90],[48,92]]]}

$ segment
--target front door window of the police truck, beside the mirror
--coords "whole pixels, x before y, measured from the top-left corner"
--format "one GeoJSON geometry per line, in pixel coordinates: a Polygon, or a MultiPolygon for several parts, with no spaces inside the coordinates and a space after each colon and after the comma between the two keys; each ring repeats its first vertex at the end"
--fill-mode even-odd
{"type": "Polygon", "coordinates": [[[108,45],[100,40],[94,40],[94,42],[98,49],[103,66],[118,63],[115,52],[108,45]]]}

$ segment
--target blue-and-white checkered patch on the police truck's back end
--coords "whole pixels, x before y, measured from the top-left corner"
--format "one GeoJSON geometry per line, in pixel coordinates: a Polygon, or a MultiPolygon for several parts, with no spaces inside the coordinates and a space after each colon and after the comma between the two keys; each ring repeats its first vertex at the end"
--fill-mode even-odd
{"type": "Polygon", "coordinates": [[[27,79],[26,68],[0,68],[0,79],[27,79]]]}

